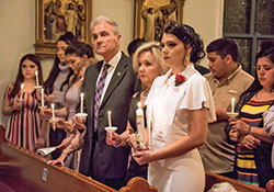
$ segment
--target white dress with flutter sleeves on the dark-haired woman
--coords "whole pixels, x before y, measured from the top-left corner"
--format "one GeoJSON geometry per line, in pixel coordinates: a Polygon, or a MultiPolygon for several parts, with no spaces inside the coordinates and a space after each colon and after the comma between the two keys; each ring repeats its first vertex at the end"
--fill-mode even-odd
{"type": "MultiPolygon", "coordinates": [[[[174,86],[171,71],[155,80],[147,99],[149,143],[152,151],[175,143],[189,133],[189,110],[209,109],[215,121],[214,101],[207,80],[193,67],[181,72],[186,81],[174,86]]],[[[184,155],[149,163],[148,181],[159,192],[202,192],[205,187],[203,163],[195,148],[184,155]]]]}

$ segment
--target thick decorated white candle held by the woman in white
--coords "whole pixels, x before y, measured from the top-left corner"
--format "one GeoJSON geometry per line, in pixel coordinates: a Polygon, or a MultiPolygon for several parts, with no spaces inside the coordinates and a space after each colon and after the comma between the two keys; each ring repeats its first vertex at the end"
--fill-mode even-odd
{"type": "Polygon", "coordinates": [[[138,102],[138,109],[136,110],[136,126],[137,126],[139,142],[145,147],[144,110],[140,108],[140,102],[138,102]]]}

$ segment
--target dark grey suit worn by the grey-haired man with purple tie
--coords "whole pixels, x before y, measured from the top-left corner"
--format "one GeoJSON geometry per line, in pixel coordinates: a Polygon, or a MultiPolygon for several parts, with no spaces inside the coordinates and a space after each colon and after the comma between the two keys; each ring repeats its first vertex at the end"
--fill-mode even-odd
{"type": "Polygon", "coordinates": [[[115,148],[105,143],[107,126],[107,111],[112,111],[112,124],[118,127],[118,134],[126,129],[127,116],[136,75],[133,70],[132,59],[122,54],[122,58],[113,74],[111,82],[99,111],[98,140],[94,139],[93,106],[94,89],[103,61],[87,68],[82,84],[84,92],[84,110],[88,113],[88,132],[80,161],[80,172],[104,182],[105,179],[124,179],[127,168],[129,148],[115,148]]]}

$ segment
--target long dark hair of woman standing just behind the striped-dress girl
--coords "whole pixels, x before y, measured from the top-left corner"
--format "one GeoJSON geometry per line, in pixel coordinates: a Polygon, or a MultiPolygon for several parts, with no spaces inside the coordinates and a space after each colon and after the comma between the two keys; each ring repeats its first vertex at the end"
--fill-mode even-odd
{"type": "MultiPolygon", "coordinates": [[[[71,43],[75,43],[77,42],[75,35],[71,33],[71,32],[68,32],[66,33],[65,35],[61,35],[57,41],[56,41],[56,44],[57,42],[65,42],[67,45],[70,45],[71,43]]],[[[55,61],[54,61],[54,66],[48,75],[48,78],[45,80],[45,83],[44,83],[44,88],[46,90],[47,93],[52,93],[53,92],[53,86],[54,86],[54,82],[58,76],[58,74],[60,72],[60,69],[59,69],[59,58],[57,57],[57,55],[55,56],[55,61]]],[[[64,83],[61,84],[61,88],[68,83],[69,81],[69,77],[72,75],[72,70],[70,70],[70,74],[68,76],[68,78],[66,79],[66,81],[64,81],[64,83]]]]}

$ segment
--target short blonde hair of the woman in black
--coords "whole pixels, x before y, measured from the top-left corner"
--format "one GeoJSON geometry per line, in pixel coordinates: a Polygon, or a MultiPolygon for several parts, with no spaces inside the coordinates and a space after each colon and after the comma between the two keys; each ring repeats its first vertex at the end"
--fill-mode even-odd
{"type": "Polygon", "coordinates": [[[161,69],[161,75],[164,75],[169,70],[168,66],[164,64],[163,58],[161,56],[160,44],[157,42],[149,42],[149,43],[144,43],[134,53],[133,67],[134,67],[135,72],[138,72],[139,56],[144,52],[150,52],[152,54],[152,56],[156,59],[157,65],[161,69]]]}

